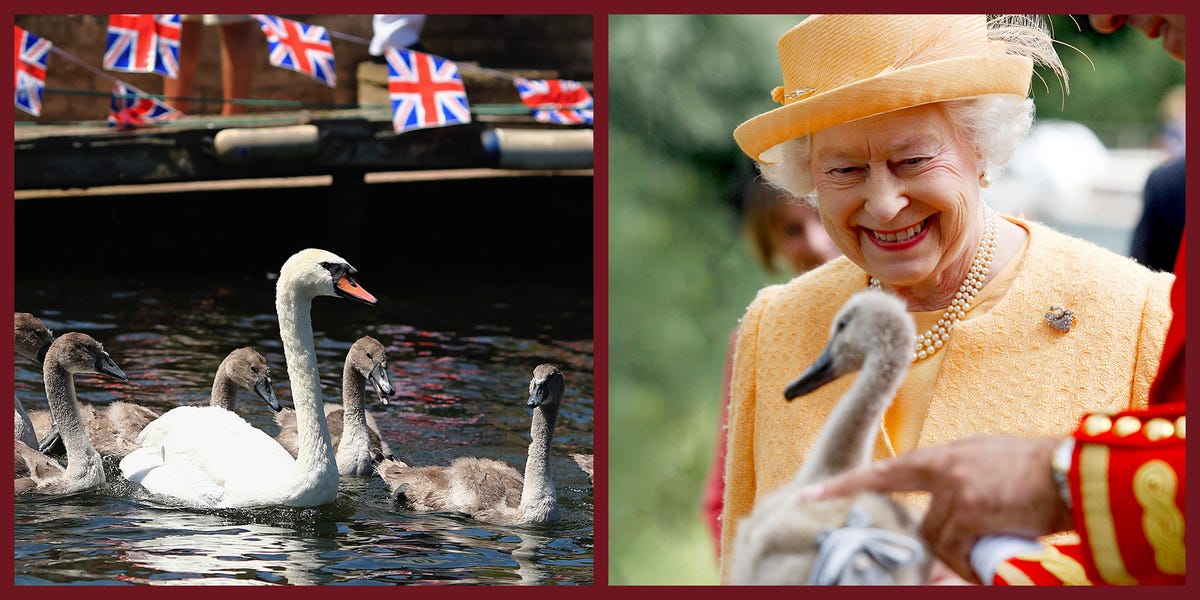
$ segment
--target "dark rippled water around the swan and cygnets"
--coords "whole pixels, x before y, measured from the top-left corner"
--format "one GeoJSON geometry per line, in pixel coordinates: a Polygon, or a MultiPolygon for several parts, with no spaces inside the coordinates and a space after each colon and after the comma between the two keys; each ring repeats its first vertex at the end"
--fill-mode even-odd
{"type": "MultiPolygon", "coordinates": [[[[366,284],[366,282],[364,282],[366,284]]],[[[533,367],[556,362],[566,397],[552,469],[563,518],[500,527],[395,506],[378,478],[342,478],[314,509],[198,511],[164,506],[119,476],[65,498],[18,498],[17,584],[592,584],[593,498],[571,452],[592,452],[590,290],[377,289],[376,307],[318,299],[312,318],[322,384],[338,401],[346,352],[371,335],[388,348],[397,396],[368,409],[396,455],[413,464],[488,456],[523,468],[533,367]]],[[[100,340],[131,383],[79,376],[83,402],[133,401],[158,410],[208,401],[224,355],[252,346],[276,394],[290,396],[270,281],[72,277],[17,282],[16,308],[56,334],[100,340]],[[88,294],[79,294],[88,289],[88,294]]],[[[44,408],[40,370],[17,359],[16,391],[44,408]]],[[[275,433],[265,406],[239,394],[239,413],[275,433]]]]}

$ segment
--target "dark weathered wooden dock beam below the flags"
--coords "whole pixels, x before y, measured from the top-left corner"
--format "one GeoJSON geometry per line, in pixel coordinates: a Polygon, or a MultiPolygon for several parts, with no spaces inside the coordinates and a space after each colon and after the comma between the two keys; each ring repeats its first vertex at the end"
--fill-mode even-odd
{"type": "Polygon", "coordinates": [[[14,127],[14,188],[293,178],[358,176],[371,172],[470,169],[494,166],[481,136],[496,126],[541,128],[523,115],[481,115],[474,122],[396,134],[378,110],[269,113],[239,118],[185,116],[152,128],[119,131],[100,124],[14,127]],[[222,161],[214,148],[227,128],[312,125],[319,146],[302,158],[270,152],[252,162],[222,161]]]}

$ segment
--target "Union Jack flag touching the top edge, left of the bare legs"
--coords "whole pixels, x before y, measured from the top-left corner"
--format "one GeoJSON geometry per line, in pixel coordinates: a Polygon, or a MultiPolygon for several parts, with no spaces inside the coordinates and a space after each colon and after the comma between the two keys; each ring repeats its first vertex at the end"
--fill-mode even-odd
{"type": "Polygon", "coordinates": [[[179,14],[109,14],[104,68],[179,77],[179,14]]]}

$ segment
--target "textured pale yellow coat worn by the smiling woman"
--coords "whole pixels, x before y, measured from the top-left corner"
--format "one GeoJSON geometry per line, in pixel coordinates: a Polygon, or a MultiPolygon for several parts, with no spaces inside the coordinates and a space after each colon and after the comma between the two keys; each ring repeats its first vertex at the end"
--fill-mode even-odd
{"type": "MultiPolygon", "coordinates": [[[[1048,227],[1006,218],[1028,230],[1025,254],[1008,292],[990,312],[956,325],[941,350],[918,446],[977,433],[1066,437],[1084,413],[1146,406],[1171,319],[1175,276],[1048,227]],[[1074,311],[1070,331],[1045,322],[1051,305],[1074,311]]],[[[842,377],[784,400],[784,386],[824,348],[834,314],[865,283],[862,269],[839,258],[763,288],[742,319],[728,414],[722,580],[738,520],[756,498],[792,478],[853,380],[842,377]]],[[[910,382],[893,410],[914,394],[910,382]]],[[[906,450],[881,436],[875,458],[906,450]]]]}

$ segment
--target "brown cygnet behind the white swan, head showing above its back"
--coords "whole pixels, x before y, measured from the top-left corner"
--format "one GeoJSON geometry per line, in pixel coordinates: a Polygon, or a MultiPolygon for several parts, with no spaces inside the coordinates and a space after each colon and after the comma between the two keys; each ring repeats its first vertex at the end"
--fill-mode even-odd
{"type": "MultiPolygon", "coordinates": [[[[212,396],[209,398],[209,404],[232,410],[238,388],[258,394],[275,410],[282,408],[271,388],[266,359],[253,348],[238,348],[221,361],[212,379],[212,396]]],[[[118,401],[98,408],[82,404],[79,415],[96,451],[101,456],[121,457],[142,445],[138,442],[142,430],[162,414],[142,404],[118,401]]],[[[46,454],[62,452],[58,430],[52,428],[54,424],[52,415],[46,410],[30,410],[29,416],[37,437],[42,440],[38,450],[46,454]]]]}

